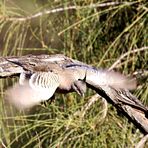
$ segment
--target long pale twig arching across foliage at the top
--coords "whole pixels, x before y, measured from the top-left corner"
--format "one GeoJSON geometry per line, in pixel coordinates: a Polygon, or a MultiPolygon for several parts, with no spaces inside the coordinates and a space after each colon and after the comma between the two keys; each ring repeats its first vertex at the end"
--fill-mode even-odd
{"type": "Polygon", "coordinates": [[[131,5],[131,4],[134,4],[134,3],[135,2],[107,2],[107,3],[90,4],[90,5],[86,5],[86,6],[67,6],[67,7],[61,7],[61,8],[56,8],[56,9],[52,9],[52,10],[44,10],[43,12],[38,12],[36,14],[33,14],[33,15],[27,16],[27,17],[6,18],[6,20],[9,20],[9,21],[27,21],[27,20],[31,20],[31,19],[43,16],[45,14],[58,13],[58,12],[67,11],[67,10],[81,10],[81,9],[101,8],[101,7],[107,7],[107,6],[115,6],[115,5],[119,5],[119,4],[131,5]]]}

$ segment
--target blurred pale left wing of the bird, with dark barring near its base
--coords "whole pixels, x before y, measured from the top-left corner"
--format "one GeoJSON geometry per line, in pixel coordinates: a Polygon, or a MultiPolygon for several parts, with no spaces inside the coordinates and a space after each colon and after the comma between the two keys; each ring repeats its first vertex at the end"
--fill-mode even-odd
{"type": "MultiPolygon", "coordinates": [[[[20,77],[21,78],[21,77],[20,77]]],[[[5,99],[18,109],[27,109],[53,96],[59,86],[59,76],[53,72],[36,72],[21,80],[6,92],[5,99]]]]}

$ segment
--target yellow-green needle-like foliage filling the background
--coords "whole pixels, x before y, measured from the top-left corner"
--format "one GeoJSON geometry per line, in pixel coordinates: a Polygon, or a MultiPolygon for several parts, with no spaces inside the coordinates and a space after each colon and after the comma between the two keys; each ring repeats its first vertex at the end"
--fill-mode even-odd
{"type": "MultiPolygon", "coordinates": [[[[120,0],[123,3],[118,5],[100,5],[106,2],[2,0],[0,55],[61,53],[96,67],[109,68],[128,52],[114,68],[130,75],[142,70],[145,75],[148,70],[148,48],[143,48],[148,47],[147,0],[120,0]],[[51,11],[57,8],[62,10],[51,11]],[[39,15],[35,17],[35,14],[39,15]]],[[[0,80],[3,147],[134,147],[143,136],[111,105],[103,117],[101,101],[92,105],[83,118],[75,116],[94,94],[91,90],[84,98],[75,93],[56,95],[54,103],[43,103],[27,113],[18,112],[3,100],[5,89],[14,81],[0,80]]],[[[140,79],[133,93],[148,104],[147,79],[140,79]]]]}

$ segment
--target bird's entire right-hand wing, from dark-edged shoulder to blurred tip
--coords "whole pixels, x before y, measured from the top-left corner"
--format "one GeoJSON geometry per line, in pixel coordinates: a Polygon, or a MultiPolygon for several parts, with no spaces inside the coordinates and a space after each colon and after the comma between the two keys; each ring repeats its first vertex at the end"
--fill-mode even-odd
{"type": "Polygon", "coordinates": [[[111,86],[129,90],[136,88],[136,80],[134,78],[126,77],[115,71],[97,69],[89,65],[80,64],[67,64],[65,68],[73,69],[74,72],[77,72],[76,74],[80,80],[84,79],[87,84],[96,88],[101,86],[111,86]]]}

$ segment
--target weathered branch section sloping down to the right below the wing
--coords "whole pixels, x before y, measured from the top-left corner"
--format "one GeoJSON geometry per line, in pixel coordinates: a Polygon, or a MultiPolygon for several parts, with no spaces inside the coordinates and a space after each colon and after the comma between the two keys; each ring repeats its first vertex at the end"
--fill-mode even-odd
{"type": "Polygon", "coordinates": [[[115,106],[118,111],[122,112],[144,134],[148,134],[148,117],[146,117],[148,116],[148,111],[144,112],[144,110],[133,107],[132,104],[125,103],[124,100],[127,96],[130,96],[128,99],[134,100],[133,103],[140,102],[129,91],[124,91],[124,97],[111,87],[103,87],[102,90],[96,89],[96,92],[115,106]]]}

